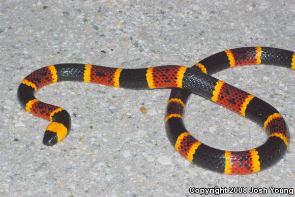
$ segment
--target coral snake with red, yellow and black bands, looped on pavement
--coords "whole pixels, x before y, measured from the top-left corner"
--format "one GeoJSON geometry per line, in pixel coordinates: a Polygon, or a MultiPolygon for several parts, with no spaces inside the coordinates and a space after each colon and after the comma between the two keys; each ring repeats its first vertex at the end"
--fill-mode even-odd
{"type": "Polygon", "coordinates": [[[108,68],[90,64],[55,64],[26,76],[18,87],[18,98],[27,112],[50,121],[43,144],[61,142],[71,127],[69,113],[39,101],[34,93],[58,81],[82,81],[130,89],[172,88],[165,116],[169,141],[195,165],[224,174],[251,174],[279,161],[289,146],[289,132],[282,115],[256,96],[210,75],[251,64],[273,64],[295,69],[295,53],[270,47],[243,47],[211,55],[192,68],[163,65],[144,69],[108,68]],[[195,139],[185,128],[183,113],[188,95],[194,92],[238,113],[258,125],[267,135],[261,146],[246,151],[224,151],[195,139]]]}

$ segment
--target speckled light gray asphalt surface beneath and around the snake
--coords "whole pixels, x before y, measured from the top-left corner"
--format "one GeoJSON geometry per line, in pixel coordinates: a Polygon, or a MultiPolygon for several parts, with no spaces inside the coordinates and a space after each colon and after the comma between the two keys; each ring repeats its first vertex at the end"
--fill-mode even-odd
{"type": "MultiPolygon", "coordinates": [[[[294,21],[294,1],[286,0],[0,1],[0,196],[197,196],[190,187],[248,189],[221,196],[289,196],[271,194],[269,187],[294,189],[291,70],[257,65],[214,75],[276,107],[289,126],[286,156],[245,176],[204,170],[176,153],[164,128],[169,89],[78,82],[42,88],[36,94],[41,101],[72,116],[71,134],[53,147],[42,144],[48,122],[24,112],[16,91],[26,75],[56,63],[191,66],[243,46],[294,51],[294,21]],[[268,194],[250,194],[251,187],[265,187],[268,194]]],[[[215,148],[245,150],[265,140],[253,122],[197,95],[189,99],[185,123],[215,148]]]]}

